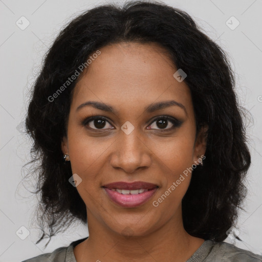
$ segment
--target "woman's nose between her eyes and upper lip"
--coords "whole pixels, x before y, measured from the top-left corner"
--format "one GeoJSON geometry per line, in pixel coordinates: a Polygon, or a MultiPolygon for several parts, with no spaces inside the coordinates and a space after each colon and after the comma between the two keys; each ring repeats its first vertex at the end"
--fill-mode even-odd
{"type": "Polygon", "coordinates": [[[151,165],[152,152],[145,139],[142,139],[135,130],[136,128],[129,135],[120,131],[110,161],[114,168],[121,168],[126,173],[134,173],[139,168],[151,165]]]}

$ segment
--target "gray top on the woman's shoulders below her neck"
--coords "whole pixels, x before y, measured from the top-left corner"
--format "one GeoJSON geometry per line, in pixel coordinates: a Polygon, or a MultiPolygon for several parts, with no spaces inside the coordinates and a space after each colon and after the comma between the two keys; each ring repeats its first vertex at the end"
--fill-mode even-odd
{"type": "MultiPolygon", "coordinates": [[[[86,238],[72,242],[68,247],[60,247],[22,262],[77,262],[73,249],[86,238]]],[[[206,240],[186,262],[261,262],[262,255],[240,249],[226,242],[206,240]]]]}

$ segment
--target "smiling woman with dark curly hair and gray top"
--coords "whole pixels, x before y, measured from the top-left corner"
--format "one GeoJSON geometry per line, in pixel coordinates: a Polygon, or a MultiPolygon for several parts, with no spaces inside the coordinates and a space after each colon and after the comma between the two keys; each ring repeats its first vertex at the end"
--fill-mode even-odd
{"type": "Polygon", "coordinates": [[[179,9],[129,2],[71,21],[26,124],[40,160],[37,243],[74,220],[89,237],[25,261],[261,261],[223,242],[250,166],[233,89],[225,52],[179,9]]]}

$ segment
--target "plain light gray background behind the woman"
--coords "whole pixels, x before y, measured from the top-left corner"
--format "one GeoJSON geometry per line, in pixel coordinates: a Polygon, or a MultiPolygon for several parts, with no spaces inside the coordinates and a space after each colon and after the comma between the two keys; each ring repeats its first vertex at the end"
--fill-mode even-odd
{"type": "MultiPolygon", "coordinates": [[[[262,1],[180,0],[164,1],[188,12],[206,33],[226,50],[237,76],[239,99],[253,115],[249,124],[249,147],[252,165],[248,173],[249,194],[245,202],[247,212],[239,216],[239,237],[243,243],[235,245],[262,254],[262,1]],[[226,21],[234,16],[240,25],[231,30],[226,21]]],[[[28,90],[38,73],[41,58],[50,47],[60,28],[82,11],[105,1],[12,1],[0,0],[0,55],[1,55],[1,245],[0,261],[21,261],[88,235],[81,225],[69,228],[55,237],[44,249],[46,241],[35,245],[39,231],[30,227],[37,200],[25,187],[33,188],[35,181],[22,181],[30,152],[30,141],[23,134],[23,123],[28,105],[28,90]],[[21,30],[16,21],[25,16],[30,25],[21,30]],[[18,127],[17,127],[18,126],[18,127]],[[30,234],[21,240],[16,234],[30,234]],[[19,231],[20,230],[20,231],[19,231]]],[[[108,2],[107,2],[108,3],[108,2]]],[[[118,3],[123,3],[119,1],[118,3]]],[[[230,21],[230,20],[229,20],[230,21]]],[[[231,22],[229,22],[231,23],[231,22]]],[[[232,21],[233,26],[235,22],[232,21]]],[[[228,237],[227,242],[233,243],[228,237]]]]}

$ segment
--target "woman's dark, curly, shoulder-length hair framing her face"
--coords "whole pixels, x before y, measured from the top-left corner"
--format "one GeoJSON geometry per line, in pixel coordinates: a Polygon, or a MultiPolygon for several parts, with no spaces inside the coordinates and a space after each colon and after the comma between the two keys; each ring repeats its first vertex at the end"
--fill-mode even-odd
{"type": "MultiPolygon", "coordinates": [[[[26,130],[33,139],[32,161],[38,162],[35,194],[39,243],[64,231],[74,220],[87,223],[86,207],[69,183],[70,162],[64,164],[61,141],[67,135],[72,94],[78,76],[56,99],[49,99],[79,65],[108,44],[158,43],[174,65],[186,72],[197,131],[207,124],[204,166],[192,172],[182,200],[183,224],[192,236],[223,241],[235,224],[247,194],[250,166],[244,108],[235,95],[235,76],[228,55],[184,11],[157,2],[106,4],[85,11],[65,26],[46,53],[34,83],[26,130]]],[[[48,242],[49,243],[49,242],[48,242]]]]}

